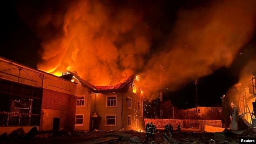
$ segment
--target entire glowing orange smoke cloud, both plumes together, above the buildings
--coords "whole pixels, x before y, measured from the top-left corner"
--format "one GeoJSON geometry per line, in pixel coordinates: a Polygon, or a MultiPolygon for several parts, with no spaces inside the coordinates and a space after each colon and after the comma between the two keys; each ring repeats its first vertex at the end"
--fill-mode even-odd
{"type": "Polygon", "coordinates": [[[155,45],[152,40],[161,37],[150,25],[154,19],[149,20],[143,2],[132,2],[141,7],[131,1],[75,0],[56,1],[36,14],[32,5],[20,9],[42,40],[38,69],[57,76],[76,71],[93,85],[117,84],[136,73],[150,90],[160,88],[162,73],[163,87],[177,90],[230,66],[254,35],[255,0],[214,0],[181,7],[168,36],[155,45]]]}

